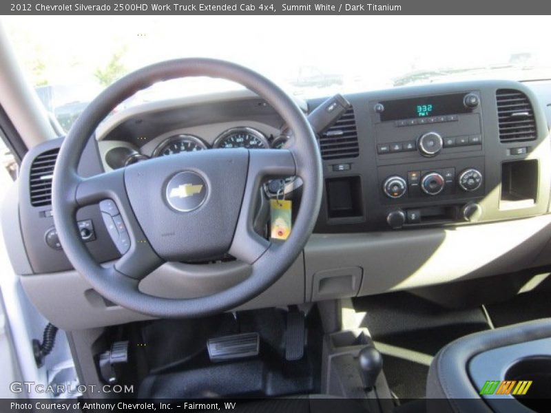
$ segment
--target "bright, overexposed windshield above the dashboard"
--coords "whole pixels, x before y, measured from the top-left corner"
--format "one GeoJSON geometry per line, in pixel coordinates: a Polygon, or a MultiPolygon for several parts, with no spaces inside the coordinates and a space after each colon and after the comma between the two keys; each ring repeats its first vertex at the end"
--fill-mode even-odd
{"type": "MultiPolygon", "coordinates": [[[[65,130],[124,74],[189,56],[240,63],[301,98],[440,81],[551,77],[545,16],[25,16],[6,17],[4,24],[39,98],[65,130]]],[[[235,87],[207,78],[171,81],[116,110],[235,87]]]]}

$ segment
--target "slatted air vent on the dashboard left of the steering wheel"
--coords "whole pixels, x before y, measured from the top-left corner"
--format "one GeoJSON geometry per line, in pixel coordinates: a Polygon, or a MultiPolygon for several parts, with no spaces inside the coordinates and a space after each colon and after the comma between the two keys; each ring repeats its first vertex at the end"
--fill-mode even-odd
{"type": "Polygon", "coordinates": [[[52,204],[52,176],[59,149],[52,149],[34,158],[30,167],[30,203],[33,207],[52,204]]]}

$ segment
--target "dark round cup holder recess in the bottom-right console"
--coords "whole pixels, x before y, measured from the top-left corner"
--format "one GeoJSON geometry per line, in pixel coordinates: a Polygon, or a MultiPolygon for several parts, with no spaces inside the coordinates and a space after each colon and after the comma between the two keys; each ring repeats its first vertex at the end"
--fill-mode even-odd
{"type": "Polygon", "coordinates": [[[541,412],[541,405],[535,403],[534,399],[548,399],[550,397],[551,357],[536,356],[521,359],[508,368],[505,379],[532,381],[526,394],[519,395],[511,392],[511,395],[526,407],[541,412]],[[540,410],[538,410],[538,407],[540,410]]]}

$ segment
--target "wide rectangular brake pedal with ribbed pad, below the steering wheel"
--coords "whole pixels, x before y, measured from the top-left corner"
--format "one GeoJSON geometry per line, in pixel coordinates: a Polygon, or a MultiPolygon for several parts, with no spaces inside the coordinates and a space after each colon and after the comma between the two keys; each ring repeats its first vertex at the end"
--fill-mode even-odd
{"type": "Polygon", "coordinates": [[[257,356],[260,350],[258,332],[244,332],[209,339],[207,349],[211,361],[225,361],[257,356]]]}

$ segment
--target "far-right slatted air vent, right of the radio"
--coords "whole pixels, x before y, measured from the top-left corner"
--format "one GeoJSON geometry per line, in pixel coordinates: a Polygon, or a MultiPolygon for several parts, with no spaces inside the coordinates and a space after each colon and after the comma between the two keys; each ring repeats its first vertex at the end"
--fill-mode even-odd
{"type": "Polygon", "coordinates": [[[528,96],[519,90],[499,89],[496,92],[499,140],[523,142],[536,138],[536,120],[528,96]]]}

